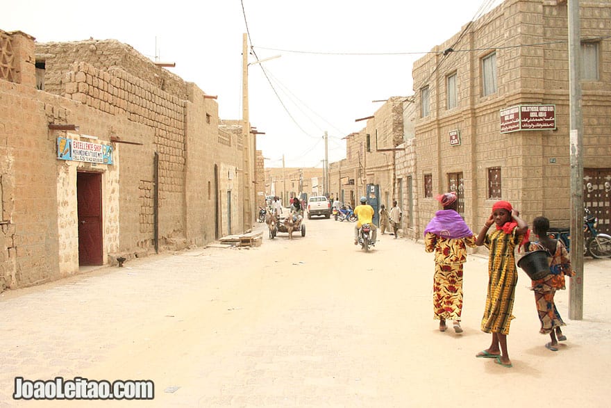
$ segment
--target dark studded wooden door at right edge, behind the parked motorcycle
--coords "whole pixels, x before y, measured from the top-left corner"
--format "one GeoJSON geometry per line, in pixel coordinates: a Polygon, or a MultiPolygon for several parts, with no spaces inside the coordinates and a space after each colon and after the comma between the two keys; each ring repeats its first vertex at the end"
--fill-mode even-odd
{"type": "Polygon", "coordinates": [[[611,169],[583,169],[583,206],[596,218],[596,228],[611,234],[611,169]]]}

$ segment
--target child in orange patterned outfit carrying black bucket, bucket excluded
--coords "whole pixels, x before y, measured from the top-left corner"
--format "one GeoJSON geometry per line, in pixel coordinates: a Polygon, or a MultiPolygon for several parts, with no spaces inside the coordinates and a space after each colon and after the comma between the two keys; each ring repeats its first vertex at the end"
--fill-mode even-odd
{"type": "Polygon", "coordinates": [[[551,351],[558,351],[558,341],[567,340],[562,334],[560,326],[565,326],[560,317],[558,309],[554,304],[553,297],[557,290],[564,290],[564,277],[575,275],[571,268],[571,259],[567,248],[561,240],[556,240],[547,235],[549,231],[549,220],[545,217],[537,217],[533,220],[533,232],[537,236],[535,242],[530,243],[528,250],[544,250],[548,254],[549,275],[542,279],[532,281],[531,290],[535,292],[535,304],[541,321],[539,333],[549,334],[551,341],[545,347],[551,351]]]}

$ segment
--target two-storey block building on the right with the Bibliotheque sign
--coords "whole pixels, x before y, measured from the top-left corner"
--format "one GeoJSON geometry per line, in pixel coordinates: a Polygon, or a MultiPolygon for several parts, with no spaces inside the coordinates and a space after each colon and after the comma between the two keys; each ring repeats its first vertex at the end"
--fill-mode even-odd
{"type": "MultiPolygon", "coordinates": [[[[611,227],[611,7],[580,2],[584,204],[611,227]]],[[[420,230],[455,190],[478,229],[506,199],[569,225],[567,2],[506,0],[413,67],[420,230]]]]}

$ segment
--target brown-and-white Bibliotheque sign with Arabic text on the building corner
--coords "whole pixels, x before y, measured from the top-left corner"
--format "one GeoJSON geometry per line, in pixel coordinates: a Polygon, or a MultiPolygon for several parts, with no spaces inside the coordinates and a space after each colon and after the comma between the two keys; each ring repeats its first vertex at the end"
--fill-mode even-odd
{"type": "Polygon", "coordinates": [[[518,105],[501,109],[501,133],[556,129],[555,105],[518,105]]]}

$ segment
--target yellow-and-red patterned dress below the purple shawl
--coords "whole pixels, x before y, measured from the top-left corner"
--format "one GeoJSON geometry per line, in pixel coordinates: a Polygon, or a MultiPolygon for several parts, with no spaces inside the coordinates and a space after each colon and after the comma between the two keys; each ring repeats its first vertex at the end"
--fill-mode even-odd
{"type": "Polygon", "coordinates": [[[460,321],[462,313],[462,264],[467,261],[467,246],[474,247],[476,236],[445,238],[427,232],[426,252],[435,251],[433,277],[433,318],[460,321]]]}

